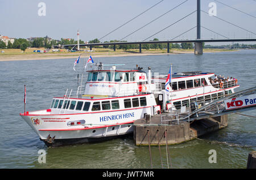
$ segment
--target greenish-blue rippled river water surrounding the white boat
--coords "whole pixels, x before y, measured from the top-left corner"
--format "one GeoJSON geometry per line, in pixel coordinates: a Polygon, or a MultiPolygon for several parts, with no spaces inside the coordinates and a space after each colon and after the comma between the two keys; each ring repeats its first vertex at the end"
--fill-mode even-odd
{"type": "MultiPolygon", "coordinates": [[[[256,84],[256,50],[193,54],[148,55],[94,58],[105,64],[124,63],[122,68],[138,64],[147,71],[207,71],[233,76],[241,85],[235,91],[256,84]]],[[[88,57],[86,57],[87,59],[88,57]]],[[[26,110],[47,109],[53,96],[63,96],[67,88],[77,89],[75,59],[0,62],[0,168],[151,168],[148,147],[137,147],[133,138],[106,142],[47,148],[19,116],[24,112],[24,84],[27,88],[26,110]],[[38,162],[38,151],[46,151],[46,163],[38,162]]],[[[74,93],[75,93],[74,92],[74,93]]],[[[256,110],[244,112],[256,116],[256,110]]],[[[228,115],[229,126],[189,142],[169,145],[172,168],[246,168],[247,156],[256,150],[256,119],[228,115]],[[216,150],[217,162],[209,163],[210,149],[216,150]]],[[[166,147],[151,147],[153,168],[167,166],[166,147]]]]}

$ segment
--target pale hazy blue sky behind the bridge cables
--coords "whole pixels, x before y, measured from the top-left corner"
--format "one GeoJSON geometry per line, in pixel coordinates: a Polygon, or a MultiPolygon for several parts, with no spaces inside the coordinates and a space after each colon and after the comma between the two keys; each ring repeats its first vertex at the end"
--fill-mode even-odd
{"type": "MultiPolygon", "coordinates": [[[[60,40],[60,38],[74,38],[77,40],[77,29],[80,39],[90,41],[100,39],[120,25],[133,19],[161,0],[0,0],[0,35],[28,38],[45,37],[46,35],[60,40]],[[43,2],[45,5],[39,6],[43,2]],[[42,12],[45,14],[42,15],[42,12]]],[[[164,0],[150,10],[123,25],[110,35],[101,39],[102,42],[121,40],[131,32],[141,28],[151,20],[158,18],[184,2],[185,0],[164,0]]],[[[214,0],[201,0],[201,10],[208,12],[209,3],[216,3],[216,17],[224,19],[232,24],[223,22],[214,16],[201,12],[201,38],[256,38],[256,1],[255,0],[218,0],[226,5],[246,12],[224,6],[214,0]],[[254,16],[254,17],[253,17],[254,16]],[[219,33],[225,37],[217,35],[219,33]]],[[[175,8],[155,22],[147,25],[133,35],[126,37],[126,41],[142,41],[168,27],[177,20],[196,10],[196,0],[188,0],[183,5],[175,8]]],[[[171,40],[181,33],[196,26],[196,12],[187,18],[172,25],[164,31],[148,38],[152,40],[171,40]]],[[[184,33],[176,40],[195,39],[196,28],[184,33]]],[[[249,42],[247,44],[250,44],[249,42]]],[[[256,42],[253,42],[256,44],[256,42]]]]}

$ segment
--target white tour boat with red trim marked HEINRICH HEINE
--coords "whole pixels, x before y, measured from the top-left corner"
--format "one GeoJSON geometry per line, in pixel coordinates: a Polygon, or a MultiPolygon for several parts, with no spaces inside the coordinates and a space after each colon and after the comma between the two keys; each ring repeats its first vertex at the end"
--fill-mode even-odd
{"type": "Polygon", "coordinates": [[[168,109],[189,108],[193,101],[214,100],[239,87],[237,80],[211,84],[208,72],[171,74],[166,93],[167,75],[152,76],[138,67],[109,70],[96,64],[88,70],[88,79],[63,97],[53,97],[49,109],[20,113],[47,146],[94,142],[131,134],[133,122],[146,114],[168,109]]]}

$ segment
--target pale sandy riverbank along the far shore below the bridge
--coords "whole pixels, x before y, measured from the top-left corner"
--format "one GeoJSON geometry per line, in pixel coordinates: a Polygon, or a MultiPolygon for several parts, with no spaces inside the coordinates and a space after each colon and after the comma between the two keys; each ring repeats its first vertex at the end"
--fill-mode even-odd
{"type": "MultiPolygon", "coordinates": [[[[204,53],[218,53],[218,52],[227,52],[230,50],[223,49],[204,49],[204,53]]],[[[117,50],[94,50],[94,52],[75,52],[75,53],[2,53],[0,54],[0,61],[24,61],[24,60],[43,60],[43,59],[67,59],[67,58],[77,58],[80,54],[81,57],[123,57],[123,56],[135,56],[135,55],[166,55],[166,54],[192,54],[192,50],[182,50],[176,49],[171,50],[170,53],[167,53],[167,50],[142,50],[142,53],[139,53],[137,50],[134,51],[125,51],[117,50]]]]}

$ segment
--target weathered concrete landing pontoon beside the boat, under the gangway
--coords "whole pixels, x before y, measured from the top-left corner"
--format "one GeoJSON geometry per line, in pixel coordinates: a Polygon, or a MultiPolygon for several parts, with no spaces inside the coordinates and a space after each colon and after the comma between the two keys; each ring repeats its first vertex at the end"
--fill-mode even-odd
{"type": "MultiPolygon", "coordinates": [[[[195,139],[228,126],[228,115],[200,119],[193,122],[169,121],[161,124],[161,115],[154,115],[150,121],[138,119],[134,122],[134,141],[136,145],[179,144],[195,139]],[[148,142],[148,134],[150,140],[148,142]]],[[[162,117],[163,118],[163,117],[162,117]]]]}

